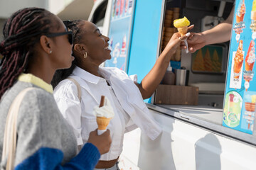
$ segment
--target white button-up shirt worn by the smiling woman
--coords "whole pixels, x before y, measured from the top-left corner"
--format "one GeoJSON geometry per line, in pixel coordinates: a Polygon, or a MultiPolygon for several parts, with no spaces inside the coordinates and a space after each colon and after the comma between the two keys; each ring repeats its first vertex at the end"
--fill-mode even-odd
{"type": "Polygon", "coordinates": [[[78,145],[87,142],[91,131],[97,128],[93,108],[100,105],[101,96],[107,96],[114,109],[114,118],[107,129],[110,130],[112,145],[110,152],[103,154],[100,160],[117,159],[122,152],[124,132],[139,127],[154,140],[161,133],[142,99],[139,89],[128,75],[117,68],[100,68],[105,79],[75,67],[70,75],[81,86],[81,102],[78,87],[68,79],[60,81],[54,89],[55,101],[60,112],[73,126],[78,145]],[[107,82],[110,86],[107,85],[107,82]]]}

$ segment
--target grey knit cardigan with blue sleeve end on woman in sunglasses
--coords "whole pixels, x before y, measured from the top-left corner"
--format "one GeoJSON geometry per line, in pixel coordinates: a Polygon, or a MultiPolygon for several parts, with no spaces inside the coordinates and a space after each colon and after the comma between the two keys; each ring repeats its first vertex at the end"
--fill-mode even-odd
{"type": "MultiPolygon", "coordinates": [[[[15,169],[94,169],[100,159],[97,147],[87,143],[78,153],[73,129],[58,110],[53,94],[24,81],[17,81],[0,101],[0,158],[11,103],[20,91],[32,86],[35,89],[24,96],[18,111],[15,169]]],[[[0,164],[5,166],[6,159],[0,164]]]]}

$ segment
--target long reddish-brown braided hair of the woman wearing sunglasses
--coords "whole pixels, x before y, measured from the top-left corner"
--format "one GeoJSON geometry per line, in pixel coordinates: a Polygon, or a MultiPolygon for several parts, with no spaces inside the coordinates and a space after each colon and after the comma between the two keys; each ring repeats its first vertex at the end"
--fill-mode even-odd
{"type": "Polygon", "coordinates": [[[14,85],[28,67],[33,47],[41,35],[49,33],[53,13],[43,8],[23,8],[4,24],[4,40],[0,44],[0,98],[14,85]]]}

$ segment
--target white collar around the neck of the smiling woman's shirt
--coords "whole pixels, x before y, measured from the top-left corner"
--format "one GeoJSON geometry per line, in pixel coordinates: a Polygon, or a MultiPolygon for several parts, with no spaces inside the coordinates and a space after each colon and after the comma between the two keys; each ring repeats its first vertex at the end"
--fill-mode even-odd
{"type": "MultiPolygon", "coordinates": [[[[107,72],[105,69],[100,67],[99,70],[100,70],[100,74],[102,74],[102,76],[105,79],[110,78],[110,73],[107,72]]],[[[72,74],[74,76],[78,76],[78,77],[84,79],[85,81],[88,81],[88,82],[93,83],[93,84],[97,84],[100,81],[100,79],[102,79],[101,77],[97,77],[93,74],[90,74],[90,72],[87,72],[84,69],[81,69],[80,67],[75,67],[72,74]]]]}

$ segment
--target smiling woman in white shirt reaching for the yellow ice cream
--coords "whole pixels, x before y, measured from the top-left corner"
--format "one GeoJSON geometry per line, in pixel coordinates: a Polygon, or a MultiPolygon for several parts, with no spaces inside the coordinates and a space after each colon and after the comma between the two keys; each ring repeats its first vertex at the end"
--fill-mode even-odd
{"type": "Polygon", "coordinates": [[[114,108],[114,118],[110,121],[112,146],[110,152],[103,154],[97,169],[118,169],[117,159],[122,152],[124,132],[139,127],[151,140],[161,133],[161,128],[151,118],[143,99],[149,98],[160,84],[169,65],[186,35],[175,33],[166,48],[156,60],[149,74],[138,84],[117,68],[100,67],[111,59],[108,41],[95,24],[88,21],[64,21],[73,31],[73,56],[75,60],[70,69],[56,72],[52,81],[55,100],[64,118],[73,126],[78,145],[87,142],[88,135],[97,128],[94,106],[99,106],[100,96],[110,99],[114,108]],[[78,81],[81,89],[81,101],[78,98],[78,86],[71,77],[78,81]]]}

